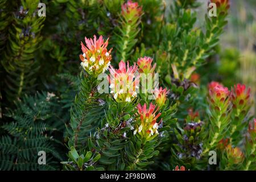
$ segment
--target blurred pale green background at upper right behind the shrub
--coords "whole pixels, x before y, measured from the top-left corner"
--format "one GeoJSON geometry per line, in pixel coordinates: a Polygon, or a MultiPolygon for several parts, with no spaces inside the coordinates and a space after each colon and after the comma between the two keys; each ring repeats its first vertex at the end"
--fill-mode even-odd
{"type": "MultiPolygon", "coordinates": [[[[203,23],[208,1],[200,1],[199,23],[203,23]]],[[[228,87],[236,82],[250,86],[256,101],[256,1],[230,0],[230,6],[229,23],[214,57],[217,81],[228,87]]],[[[251,112],[256,113],[255,102],[251,112]]]]}

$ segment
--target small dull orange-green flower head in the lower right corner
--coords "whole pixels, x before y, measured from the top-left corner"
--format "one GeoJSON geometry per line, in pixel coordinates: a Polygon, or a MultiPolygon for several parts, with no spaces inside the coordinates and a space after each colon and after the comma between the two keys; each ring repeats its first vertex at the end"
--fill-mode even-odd
{"type": "Polygon", "coordinates": [[[232,160],[233,164],[239,164],[243,162],[244,155],[238,147],[233,148],[231,144],[228,144],[228,146],[226,146],[226,154],[228,159],[232,160]]]}

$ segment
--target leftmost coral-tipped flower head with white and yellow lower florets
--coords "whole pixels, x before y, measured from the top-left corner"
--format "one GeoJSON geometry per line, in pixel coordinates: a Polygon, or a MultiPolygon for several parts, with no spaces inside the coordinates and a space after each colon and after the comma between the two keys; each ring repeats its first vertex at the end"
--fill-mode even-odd
{"type": "Polygon", "coordinates": [[[82,55],[80,55],[80,60],[82,61],[81,66],[86,72],[90,75],[98,76],[109,68],[112,49],[108,51],[106,48],[108,39],[104,43],[102,36],[99,39],[96,38],[96,35],[93,37],[93,39],[85,37],[86,46],[81,42],[82,55]]]}

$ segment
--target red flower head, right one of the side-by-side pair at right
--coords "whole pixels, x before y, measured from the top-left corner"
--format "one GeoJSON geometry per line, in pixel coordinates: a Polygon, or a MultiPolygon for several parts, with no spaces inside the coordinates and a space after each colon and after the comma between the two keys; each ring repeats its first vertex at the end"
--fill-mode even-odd
{"type": "Polygon", "coordinates": [[[234,89],[232,89],[233,107],[242,110],[245,107],[250,106],[250,90],[250,88],[246,89],[245,85],[234,85],[234,89]]]}

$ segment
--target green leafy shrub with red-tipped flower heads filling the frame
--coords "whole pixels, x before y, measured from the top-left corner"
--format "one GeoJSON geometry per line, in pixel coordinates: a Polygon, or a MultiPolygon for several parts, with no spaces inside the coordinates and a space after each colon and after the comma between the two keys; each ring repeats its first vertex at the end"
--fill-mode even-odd
{"type": "Polygon", "coordinates": [[[204,74],[228,0],[209,0],[217,16],[205,10],[201,27],[196,0],[168,11],[162,0],[49,1],[49,17],[65,9],[56,26],[30,1],[1,10],[0,170],[256,169],[253,89],[204,74]],[[36,80],[51,92],[27,97],[36,80]],[[51,155],[46,168],[34,156],[41,150],[51,155]]]}

